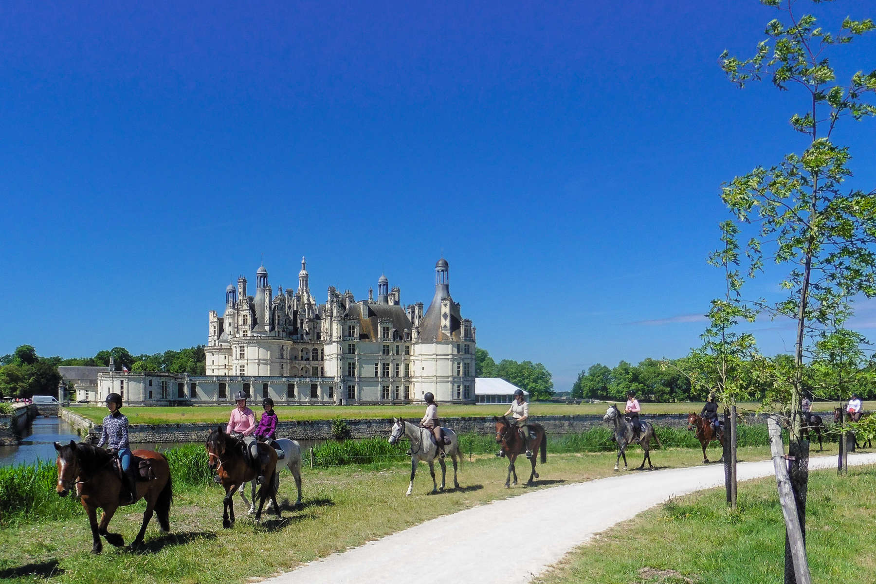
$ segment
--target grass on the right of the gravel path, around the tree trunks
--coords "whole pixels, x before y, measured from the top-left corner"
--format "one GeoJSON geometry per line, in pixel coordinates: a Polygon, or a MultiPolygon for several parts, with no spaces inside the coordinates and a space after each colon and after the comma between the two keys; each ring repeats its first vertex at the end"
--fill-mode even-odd
{"type": "MultiPolygon", "coordinates": [[[[807,552],[813,582],[871,584],[876,573],[876,468],[809,475],[807,552]]],[[[533,584],[773,584],[784,573],[785,524],[774,478],[674,499],[582,545],[533,584]]]]}

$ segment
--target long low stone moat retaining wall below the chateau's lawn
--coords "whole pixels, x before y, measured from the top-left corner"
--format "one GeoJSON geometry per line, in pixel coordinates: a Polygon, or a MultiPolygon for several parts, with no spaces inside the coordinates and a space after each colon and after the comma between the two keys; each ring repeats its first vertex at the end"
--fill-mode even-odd
{"type": "MultiPolygon", "coordinates": [[[[96,444],[100,440],[101,426],[81,418],[69,410],[64,410],[61,417],[67,419],[81,436],[96,444]]],[[[654,426],[687,427],[687,414],[655,414],[644,415],[642,420],[653,423],[654,426]]],[[[392,419],[345,419],[350,430],[350,438],[388,438],[392,419]]],[[[409,419],[408,421],[417,421],[409,419]]],[[[600,415],[592,416],[539,416],[533,419],[544,426],[548,434],[569,434],[587,432],[593,427],[608,427],[600,415]]],[[[763,418],[745,417],[742,424],[764,424],[763,418]]],[[[277,425],[277,436],[292,440],[328,440],[332,438],[333,420],[292,420],[280,421],[277,425]]],[[[496,423],[492,416],[477,418],[445,418],[442,425],[453,428],[456,433],[492,434],[496,432],[496,423]]],[[[217,424],[155,424],[132,425],[128,429],[128,437],[133,443],[160,442],[202,442],[207,439],[210,431],[217,424]]],[[[225,424],[223,423],[224,427],[225,424]]]]}

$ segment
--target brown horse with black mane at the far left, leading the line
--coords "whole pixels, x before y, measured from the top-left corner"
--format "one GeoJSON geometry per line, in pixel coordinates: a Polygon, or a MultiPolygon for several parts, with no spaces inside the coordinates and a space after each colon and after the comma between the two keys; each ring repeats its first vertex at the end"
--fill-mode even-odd
{"type": "Polygon", "coordinates": [[[103,550],[101,536],[117,547],[124,545],[124,538],[118,533],[109,533],[107,526],[109,520],[123,504],[136,503],[139,499],[145,499],[146,510],[143,512],[143,524],[137,538],[131,542],[131,549],[143,545],[143,536],[146,525],[152,519],[152,513],[159,518],[159,526],[162,533],[170,531],[170,506],[173,503],[173,486],[170,476],[170,467],[164,454],[154,450],[135,450],[131,464],[138,464],[138,459],[150,461],[155,478],[149,481],[137,481],[134,483],[134,496],[131,503],[121,503],[119,496],[122,490],[122,477],[120,468],[116,468],[113,461],[117,461],[117,455],[102,448],[70,440],[69,444],[61,445],[54,443],[58,451],[58,484],[55,491],[60,496],[67,496],[73,486],[76,487],[76,496],[80,497],[82,507],[88,513],[88,523],[91,525],[91,537],[93,545],[92,553],[100,553],[103,550]],[[100,524],[97,523],[97,508],[100,507],[100,524]]]}

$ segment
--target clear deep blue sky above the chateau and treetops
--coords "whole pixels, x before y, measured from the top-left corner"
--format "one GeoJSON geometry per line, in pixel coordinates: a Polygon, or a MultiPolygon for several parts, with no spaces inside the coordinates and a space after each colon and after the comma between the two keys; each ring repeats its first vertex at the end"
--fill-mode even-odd
{"type": "MultiPolygon", "coordinates": [[[[801,95],[718,67],[774,11],[542,4],[4,3],[0,354],[203,343],[263,254],[274,290],[306,256],[321,301],[385,271],[403,304],[431,299],[443,254],[478,345],[544,362],[557,390],[686,354],[721,293],[722,181],[803,145],[801,95]]],[[[840,74],[874,54],[841,47],[840,74]]],[[[872,188],[873,122],[837,141],[872,188]]]]}

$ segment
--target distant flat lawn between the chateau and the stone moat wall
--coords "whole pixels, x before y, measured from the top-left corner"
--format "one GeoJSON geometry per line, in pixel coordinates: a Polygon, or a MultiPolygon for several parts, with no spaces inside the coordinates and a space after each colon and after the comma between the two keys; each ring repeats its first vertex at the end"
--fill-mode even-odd
{"type": "MultiPolygon", "coordinates": [[[[258,401],[258,400],[256,400],[258,401]]],[[[820,402],[823,409],[830,409],[831,404],[820,402]]],[[[529,405],[529,412],[533,418],[538,416],[573,416],[577,414],[604,414],[605,404],[541,404],[533,402],[529,405]]],[[[131,424],[177,424],[180,422],[227,422],[230,412],[234,408],[229,405],[196,405],[194,407],[151,407],[133,406],[124,408],[123,412],[131,424]]],[[[740,412],[753,412],[758,404],[739,404],[740,412]]],[[[508,405],[441,405],[439,412],[442,418],[465,418],[477,416],[497,416],[505,413],[508,405]]],[[[679,402],[675,404],[642,404],[644,413],[689,413],[700,412],[703,404],[699,402],[679,402]]],[[[274,410],[280,420],[289,419],[332,419],[340,416],[344,419],[374,419],[392,418],[401,416],[404,418],[422,417],[424,408],[422,405],[279,405],[274,410]]],[[[107,415],[107,409],[103,406],[89,405],[74,407],[82,417],[100,424],[107,415]]],[[[261,408],[253,408],[257,414],[261,408]]]]}

